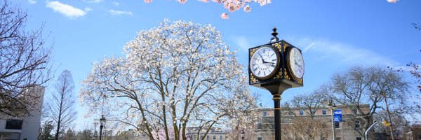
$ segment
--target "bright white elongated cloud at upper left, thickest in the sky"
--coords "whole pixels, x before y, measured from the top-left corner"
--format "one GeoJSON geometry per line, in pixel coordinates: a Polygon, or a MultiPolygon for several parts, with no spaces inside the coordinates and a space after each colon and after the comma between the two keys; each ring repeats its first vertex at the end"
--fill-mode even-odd
{"type": "Polygon", "coordinates": [[[73,6],[60,3],[59,1],[46,1],[47,7],[52,8],[55,12],[61,13],[63,15],[66,15],[68,18],[78,18],[83,15],[86,15],[86,12],[88,10],[91,10],[90,8],[85,10],[81,10],[79,8],[75,8],[73,6]]]}

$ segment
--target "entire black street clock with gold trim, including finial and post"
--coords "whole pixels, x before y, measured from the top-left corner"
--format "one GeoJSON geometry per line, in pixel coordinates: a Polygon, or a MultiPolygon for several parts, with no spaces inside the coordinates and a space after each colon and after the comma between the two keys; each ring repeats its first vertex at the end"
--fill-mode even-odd
{"type": "Polygon", "coordinates": [[[276,28],[273,31],[272,36],[274,37],[271,38],[269,43],[248,49],[248,82],[252,86],[269,90],[272,94],[272,99],[274,100],[275,140],[281,140],[281,94],[288,88],[302,87],[304,62],[301,50],[286,41],[279,41],[279,38],[276,37],[278,35],[276,28]],[[270,55],[271,52],[260,51],[262,49],[259,49],[268,47],[276,50],[276,55],[279,56],[277,57],[275,69],[271,69],[271,65],[267,64],[268,58],[265,58],[272,56],[270,55]],[[298,52],[295,52],[295,49],[298,52]],[[260,57],[256,57],[255,53],[259,53],[260,57]],[[261,71],[269,72],[262,74],[261,71]]]}

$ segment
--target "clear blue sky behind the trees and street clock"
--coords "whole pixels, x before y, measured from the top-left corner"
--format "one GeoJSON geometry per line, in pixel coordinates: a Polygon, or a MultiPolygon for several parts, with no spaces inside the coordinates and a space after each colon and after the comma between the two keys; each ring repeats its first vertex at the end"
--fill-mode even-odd
{"type": "MultiPolygon", "coordinates": [[[[213,25],[223,41],[238,50],[239,62],[244,66],[248,64],[248,48],[268,43],[272,28],[278,28],[279,38],[300,48],[305,59],[305,86],[286,90],[283,101],[294,94],[311,92],[328,81],[332,73],[351,66],[421,64],[421,31],[411,25],[421,25],[419,0],[274,0],[266,6],[250,3],[249,13],[229,13],[222,5],[199,1],[12,2],[27,9],[27,29],[39,29],[45,24],[46,44],[54,47],[55,75],[64,69],[72,72],[75,96],[93,62],[104,56],[123,55],[123,45],[138,31],[156,27],[164,18],[213,25]],[[229,13],[229,20],[222,20],[221,13],[229,13]]],[[[269,92],[255,87],[250,90],[262,95],[263,105],[273,106],[269,92]]],[[[47,96],[51,92],[48,87],[47,96]]],[[[91,127],[93,118],[83,119],[85,111],[77,106],[76,129],[91,127]]]]}

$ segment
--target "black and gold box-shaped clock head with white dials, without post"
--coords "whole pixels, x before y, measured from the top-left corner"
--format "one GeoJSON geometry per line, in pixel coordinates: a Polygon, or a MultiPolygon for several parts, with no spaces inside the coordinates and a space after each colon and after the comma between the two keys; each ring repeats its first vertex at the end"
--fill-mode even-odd
{"type": "Polygon", "coordinates": [[[273,91],[279,91],[273,85],[282,85],[283,89],[302,87],[305,66],[299,48],[281,40],[271,41],[248,51],[250,85],[273,91]]]}

